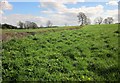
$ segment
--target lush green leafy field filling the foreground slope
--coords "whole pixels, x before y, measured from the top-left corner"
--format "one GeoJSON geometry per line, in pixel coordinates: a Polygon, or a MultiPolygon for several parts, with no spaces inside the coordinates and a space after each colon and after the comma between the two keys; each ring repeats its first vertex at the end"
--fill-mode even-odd
{"type": "Polygon", "coordinates": [[[3,42],[3,81],[117,81],[118,34],[117,24],[88,25],[3,42]]]}

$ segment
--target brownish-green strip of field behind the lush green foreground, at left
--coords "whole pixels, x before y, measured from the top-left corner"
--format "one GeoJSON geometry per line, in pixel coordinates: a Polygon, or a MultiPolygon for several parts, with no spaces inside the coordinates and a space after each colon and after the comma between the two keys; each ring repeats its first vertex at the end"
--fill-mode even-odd
{"type": "Polygon", "coordinates": [[[27,35],[33,35],[36,33],[45,33],[45,32],[56,32],[61,30],[73,30],[79,29],[79,26],[66,26],[66,27],[55,27],[55,28],[39,28],[39,29],[0,29],[0,36],[2,35],[3,41],[8,41],[15,38],[22,38],[27,35]]]}

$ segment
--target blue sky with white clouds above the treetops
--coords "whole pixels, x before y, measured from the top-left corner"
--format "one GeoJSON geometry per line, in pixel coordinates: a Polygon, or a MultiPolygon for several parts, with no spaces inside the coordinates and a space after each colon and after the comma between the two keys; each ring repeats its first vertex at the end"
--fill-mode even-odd
{"type": "Polygon", "coordinates": [[[94,23],[96,17],[118,21],[118,0],[1,0],[2,23],[17,25],[33,21],[39,26],[50,20],[53,25],[79,25],[77,14],[84,12],[94,23]],[[34,2],[33,2],[34,1],[34,2]],[[97,2],[99,1],[99,2],[97,2]],[[101,1],[101,2],[100,2],[101,1]]]}

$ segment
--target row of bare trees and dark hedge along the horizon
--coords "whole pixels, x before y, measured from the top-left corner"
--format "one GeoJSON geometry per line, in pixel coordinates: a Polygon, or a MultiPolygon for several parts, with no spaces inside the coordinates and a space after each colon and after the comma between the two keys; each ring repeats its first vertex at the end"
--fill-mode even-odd
{"type": "MultiPolygon", "coordinates": [[[[85,13],[83,12],[79,12],[78,15],[78,22],[80,24],[80,26],[83,25],[90,25],[91,24],[91,20],[90,18],[88,18],[85,13]]],[[[94,23],[95,24],[112,24],[114,21],[114,19],[112,17],[107,17],[105,19],[103,19],[102,17],[97,17],[94,19],[94,23]]],[[[35,22],[31,22],[31,21],[25,21],[25,22],[21,22],[19,21],[17,23],[17,26],[13,26],[13,25],[9,25],[9,24],[0,24],[0,28],[2,29],[35,29],[35,28],[42,28],[43,26],[41,25],[40,27],[38,27],[38,25],[35,22]]],[[[48,20],[46,23],[46,27],[57,27],[57,26],[52,26],[53,23],[48,20]]],[[[65,26],[67,26],[67,24],[65,23],[65,26]]]]}

